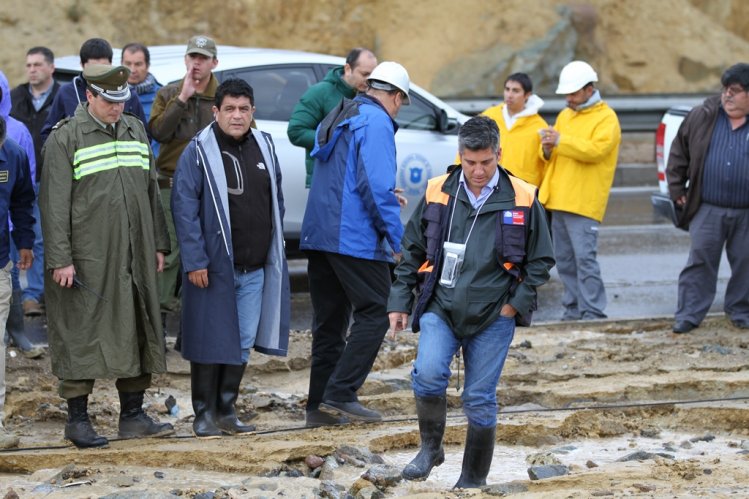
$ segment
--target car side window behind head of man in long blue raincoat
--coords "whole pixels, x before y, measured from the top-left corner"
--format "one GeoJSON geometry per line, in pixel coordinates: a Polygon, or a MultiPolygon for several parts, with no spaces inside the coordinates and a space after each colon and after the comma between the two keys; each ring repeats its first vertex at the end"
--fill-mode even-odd
{"type": "Polygon", "coordinates": [[[255,118],[289,121],[302,94],[317,82],[309,66],[275,66],[225,71],[224,77],[242,78],[255,93],[255,118]]]}

